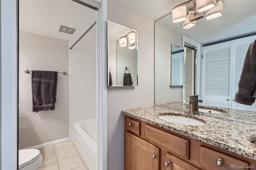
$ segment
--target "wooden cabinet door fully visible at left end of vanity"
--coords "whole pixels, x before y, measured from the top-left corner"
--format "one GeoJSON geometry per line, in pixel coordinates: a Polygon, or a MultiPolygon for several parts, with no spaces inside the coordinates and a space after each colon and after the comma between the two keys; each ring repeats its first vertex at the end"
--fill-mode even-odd
{"type": "Polygon", "coordinates": [[[159,148],[156,146],[126,132],[125,149],[125,170],[159,170],[159,148]]]}

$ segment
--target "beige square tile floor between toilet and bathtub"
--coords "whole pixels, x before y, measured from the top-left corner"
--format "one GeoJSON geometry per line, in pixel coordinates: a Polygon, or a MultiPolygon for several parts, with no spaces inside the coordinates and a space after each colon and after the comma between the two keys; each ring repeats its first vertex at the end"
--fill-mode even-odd
{"type": "Polygon", "coordinates": [[[39,150],[43,161],[37,170],[88,170],[71,140],[39,150]]]}

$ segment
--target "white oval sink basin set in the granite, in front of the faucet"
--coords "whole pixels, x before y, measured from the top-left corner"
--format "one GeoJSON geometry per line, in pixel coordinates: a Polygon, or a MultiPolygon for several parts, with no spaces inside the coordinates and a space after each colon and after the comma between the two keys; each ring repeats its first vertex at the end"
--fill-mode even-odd
{"type": "Polygon", "coordinates": [[[163,115],[163,116],[158,116],[158,118],[164,120],[164,121],[168,121],[168,122],[172,122],[172,123],[179,123],[182,125],[199,125],[202,126],[204,125],[204,123],[194,120],[194,119],[190,119],[187,117],[180,117],[180,116],[173,116],[173,115],[163,115]]]}

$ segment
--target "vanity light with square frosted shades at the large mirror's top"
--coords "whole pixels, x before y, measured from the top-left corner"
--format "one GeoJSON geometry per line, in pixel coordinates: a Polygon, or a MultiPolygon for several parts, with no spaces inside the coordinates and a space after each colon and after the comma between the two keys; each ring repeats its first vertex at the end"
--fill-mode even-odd
{"type": "Polygon", "coordinates": [[[189,29],[195,26],[196,20],[205,17],[206,20],[212,20],[223,15],[222,0],[188,0],[178,4],[172,9],[172,22],[182,23],[182,28],[189,29]],[[186,5],[193,4],[186,13],[186,5]]]}

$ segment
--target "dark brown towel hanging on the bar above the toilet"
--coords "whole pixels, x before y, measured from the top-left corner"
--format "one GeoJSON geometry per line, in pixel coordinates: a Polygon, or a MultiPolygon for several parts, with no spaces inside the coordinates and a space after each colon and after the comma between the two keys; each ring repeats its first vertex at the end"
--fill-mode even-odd
{"type": "Polygon", "coordinates": [[[33,112],[55,109],[57,75],[57,71],[32,70],[33,112]]]}

